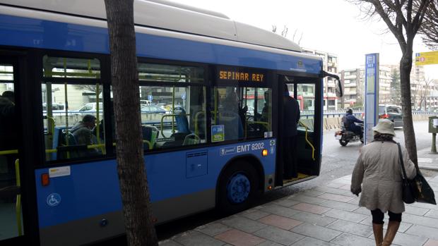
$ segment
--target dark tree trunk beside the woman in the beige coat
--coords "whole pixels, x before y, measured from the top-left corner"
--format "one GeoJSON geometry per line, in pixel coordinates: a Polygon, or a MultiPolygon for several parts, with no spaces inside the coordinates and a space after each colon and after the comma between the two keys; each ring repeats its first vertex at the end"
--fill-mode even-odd
{"type": "Polygon", "coordinates": [[[406,44],[400,60],[401,106],[403,111],[403,133],[405,146],[410,160],[418,170],[417,144],[415,142],[414,125],[412,121],[412,106],[410,102],[410,70],[412,70],[412,45],[406,44]]]}

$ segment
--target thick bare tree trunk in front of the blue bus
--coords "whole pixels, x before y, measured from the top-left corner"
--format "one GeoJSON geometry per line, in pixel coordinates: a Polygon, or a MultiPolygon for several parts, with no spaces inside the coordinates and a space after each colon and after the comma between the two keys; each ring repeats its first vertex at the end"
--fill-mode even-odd
{"type": "Polygon", "coordinates": [[[158,245],[143,159],[134,1],[105,0],[116,125],[117,172],[129,245],[158,245]]]}

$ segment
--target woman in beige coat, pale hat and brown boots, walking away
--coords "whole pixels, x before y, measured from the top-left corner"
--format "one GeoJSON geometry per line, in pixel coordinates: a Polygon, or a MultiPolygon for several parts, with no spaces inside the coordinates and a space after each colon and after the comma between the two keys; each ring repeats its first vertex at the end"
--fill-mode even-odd
{"type": "MultiPolygon", "coordinates": [[[[394,123],[381,120],[372,128],[374,141],[361,149],[353,170],[351,192],[360,195],[359,206],[371,210],[372,229],[376,245],[391,245],[401,222],[405,205],[401,199],[402,171],[398,146],[393,140],[394,123]],[[362,189],[360,185],[362,184],[362,189]],[[388,211],[389,223],[383,237],[384,213],[388,211]]],[[[414,178],[416,171],[408,152],[402,147],[406,176],[414,178]]]]}

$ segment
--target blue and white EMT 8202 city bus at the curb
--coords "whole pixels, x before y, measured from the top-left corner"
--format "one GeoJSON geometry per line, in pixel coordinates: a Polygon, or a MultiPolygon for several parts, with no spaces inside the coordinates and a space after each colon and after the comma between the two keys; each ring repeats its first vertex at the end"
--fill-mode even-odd
{"type": "MultiPolygon", "coordinates": [[[[319,175],[329,75],[320,57],[221,13],[161,0],[134,10],[157,223],[241,211],[319,175]],[[282,149],[285,85],[302,104],[296,149],[282,149]],[[285,152],[297,177],[283,175],[285,152]]],[[[104,1],[1,0],[0,37],[0,243],[124,235],[104,1]]]]}

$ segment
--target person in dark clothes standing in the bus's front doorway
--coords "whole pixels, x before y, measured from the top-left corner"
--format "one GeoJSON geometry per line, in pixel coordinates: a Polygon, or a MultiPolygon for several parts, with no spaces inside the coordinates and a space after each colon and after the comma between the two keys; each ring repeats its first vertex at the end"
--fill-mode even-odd
{"type": "Polygon", "coordinates": [[[285,143],[283,144],[284,178],[297,178],[297,123],[300,121],[300,104],[297,99],[290,97],[288,85],[285,84],[283,96],[284,121],[283,133],[285,143]]]}

